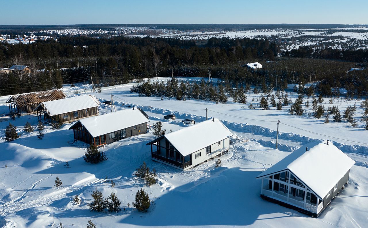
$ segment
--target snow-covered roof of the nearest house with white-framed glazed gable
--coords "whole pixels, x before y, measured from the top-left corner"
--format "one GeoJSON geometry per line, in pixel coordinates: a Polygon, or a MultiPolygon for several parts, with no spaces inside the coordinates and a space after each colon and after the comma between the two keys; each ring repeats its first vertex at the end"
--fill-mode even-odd
{"type": "Polygon", "coordinates": [[[354,165],[350,157],[331,142],[319,140],[302,146],[256,178],[290,170],[298,179],[323,198],[354,165]],[[305,151],[308,147],[308,151],[305,151]]]}

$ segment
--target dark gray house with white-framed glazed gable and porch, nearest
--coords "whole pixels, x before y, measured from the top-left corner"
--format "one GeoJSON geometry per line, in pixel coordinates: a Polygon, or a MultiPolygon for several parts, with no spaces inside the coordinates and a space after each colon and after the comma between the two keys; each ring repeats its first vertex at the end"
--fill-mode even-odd
{"type": "Polygon", "coordinates": [[[261,197],[315,217],[347,184],[350,157],[331,142],[317,141],[292,152],[256,177],[261,197]]]}

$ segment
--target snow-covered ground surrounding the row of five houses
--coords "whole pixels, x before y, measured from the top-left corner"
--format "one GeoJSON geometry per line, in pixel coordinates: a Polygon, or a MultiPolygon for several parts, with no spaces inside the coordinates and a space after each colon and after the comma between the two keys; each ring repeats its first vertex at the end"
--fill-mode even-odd
{"type": "MultiPolygon", "coordinates": [[[[72,90],[86,90],[88,85],[72,90]]],[[[42,140],[36,132],[26,133],[26,121],[35,125],[37,117],[24,115],[15,121],[1,118],[0,129],[9,122],[18,127],[21,138],[13,142],[0,142],[0,227],[86,227],[92,220],[97,227],[367,227],[368,225],[368,131],[350,127],[346,122],[323,123],[323,118],[297,117],[283,110],[249,110],[248,104],[258,104],[259,95],[247,95],[248,104],[215,104],[206,100],[160,100],[160,97],[139,97],[129,92],[130,86],[102,90],[95,96],[101,101],[114,95],[118,110],[135,104],[149,115],[153,124],[163,121],[163,128],[175,131],[187,127],[181,120],[193,118],[196,122],[216,117],[235,134],[230,153],[223,157],[223,166],[216,168],[211,160],[188,171],[179,171],[151,160],[151,147],[146,143],[154,136],[151,132],[114,142],[102,148],[109,159],[100,164],[87,164],[82,156],[86,144],[73,142],[71,124],[59,130],[44,130],[42,140]],[[254,98],[255,101],[251,101],[254,98]],[[166,121],[163,115],[174,113],[175,121],[166,121]],[[276,127],[279,125],[279,149],[275,149],[276,127]],[[284,125],[287,124],[287,125],[284,125]],[[297,127],[297,128],[296,128],[297,127]],[[325,135],[325,136],[324,136],[325,135]],[[349,183],[318,217],[312,218],[262,200],[259,197],[261,181],[255,177],[303,144],[316,139],[330,139],[334,145],[356,161],[350,171],[349,183]],[[64,166],[69,161],[71,168],[64,166]],[[145,161],[158,172],[158,184],[145,186],[134,177],[135,168],[145,161]],[[7,165],[7,168],[5,168],[7,165]],[[105,183],[105,177],[116,185],[105,183]],[[56,189],[54,180],[59,177],[63,188],[56,189]],[[121,200],[118,213],[96,213],[88,209],[91,193],[101,190],[105,197],[111,192],[121,200]],[[132,207],[135,193],[144,188],[149,192],[153,205],[148,213],[132,207]],[[82,198],[80,205],[72,197],[82,198]],[[130,207],[128,207],[130,204],[130,207]]],[[[290,94],[293,100],[296,94],[290,94]]],[[[4,102],[3,98],[0,98],[4,102]]],[[[306,99],[304,99],[306,101],[306,99]]],[[[311,100],[309,100],[311,102],[311,100]]],[[[360,102],[335,99],[340,111],[357,103],[357,117],[361,115],[360,102]]],[[[323,104],[327,107],[328,99],[323,104]]],[[[0,106],[0,113],[7,112],[0,106]]],[[[308,108],[306,111],[308,112],[308,108]]],[[[309,108],[310,109],[310,108],[309,108]]],[[[102,104],[100,114],[110,112],[102,104]]],[[[357,118],[358,120],[359,118],[357,118]]],[[[313,164],[311,164],[313,168],[313,164]]]]}

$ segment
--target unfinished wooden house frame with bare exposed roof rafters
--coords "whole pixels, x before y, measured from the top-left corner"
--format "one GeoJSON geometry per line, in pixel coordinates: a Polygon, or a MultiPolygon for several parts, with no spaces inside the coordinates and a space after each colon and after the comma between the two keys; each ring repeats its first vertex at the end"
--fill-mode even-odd
{"type": "Polygon", "coordinates": [[[42,92],[24,93],[9,97],[9,111],[11,113],[36,113],[34,110],[40,103],[51,100],[60,100],[66,97],[62,90],[53,89],[42,92]]]}

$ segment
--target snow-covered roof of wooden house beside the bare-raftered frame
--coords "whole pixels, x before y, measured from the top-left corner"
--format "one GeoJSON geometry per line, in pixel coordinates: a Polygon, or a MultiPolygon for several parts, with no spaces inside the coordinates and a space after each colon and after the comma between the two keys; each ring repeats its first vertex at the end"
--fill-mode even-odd
{"type": "Polygon", "coordinates": [[[97,107],[99,105],[100,101],[95,96],[84,95],[42,102],[35,108],[35,110],[42,106],[49,116],[53,116],[86,108],[97,107]]]}

